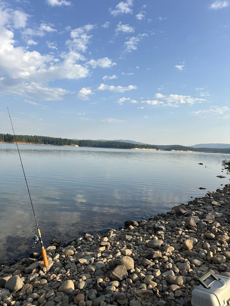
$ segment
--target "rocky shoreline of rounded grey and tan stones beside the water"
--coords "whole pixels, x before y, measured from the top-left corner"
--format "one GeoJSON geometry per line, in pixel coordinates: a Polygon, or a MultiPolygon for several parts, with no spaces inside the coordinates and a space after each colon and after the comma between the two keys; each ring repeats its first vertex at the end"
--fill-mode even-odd
{"type": "MultiPolygon", "coordinates": [[[[148,221],[128,220],[0,267],[0,305],[191,305],[209,270],[230,277],[230,184],[148,221]]],[[[58,242],[58,241],[54,241],[58,242]]]]}

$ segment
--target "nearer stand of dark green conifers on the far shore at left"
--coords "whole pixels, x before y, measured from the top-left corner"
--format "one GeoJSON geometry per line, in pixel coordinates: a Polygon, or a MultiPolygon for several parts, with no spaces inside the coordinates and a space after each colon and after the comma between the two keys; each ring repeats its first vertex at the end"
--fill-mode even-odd
{"type": "MultiPolygon", "coordinates": [[[[57,138],[57,137],[48,137],[48,136],[37,136],[37,135],[16,135],[16,140],[18,142],[27,142],[35,144],[52,144],[55,146],[70,146],[78,145],[78,141],[67,139],[67,138],[57,138]]],[[[0,141],[4,142],[15,142],[14,135],[12,134],[0,134],[0,141]]]]}

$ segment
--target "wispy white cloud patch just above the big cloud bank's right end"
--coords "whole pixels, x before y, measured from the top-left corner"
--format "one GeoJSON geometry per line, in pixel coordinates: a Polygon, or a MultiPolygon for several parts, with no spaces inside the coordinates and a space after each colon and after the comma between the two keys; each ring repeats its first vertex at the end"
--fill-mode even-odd
{"type": "Polygon", "coordinates": [[[80,28],[76,28],[70,32],[72,38],[66,41],[66,45],[70,50],[86,52],[87,45],[90,43],[92,35],[88,35],[88,32],[93,30],[93,24],[86,24],[80,28]]]}

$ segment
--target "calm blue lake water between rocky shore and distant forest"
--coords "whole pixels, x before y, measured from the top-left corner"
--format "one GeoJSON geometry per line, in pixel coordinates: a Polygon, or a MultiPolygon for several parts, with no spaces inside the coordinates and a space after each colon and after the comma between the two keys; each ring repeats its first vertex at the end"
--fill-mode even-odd
{"type": "MultiPolygon", "coordinates": [[[[148,219],[230,178],[221,172],[221,154],[37,145],[19,150],[45,245],[148,219]]],[[[36,225],[16,145],[0,144],[0,172],[3,263],[32,251],[36,225]]]]}

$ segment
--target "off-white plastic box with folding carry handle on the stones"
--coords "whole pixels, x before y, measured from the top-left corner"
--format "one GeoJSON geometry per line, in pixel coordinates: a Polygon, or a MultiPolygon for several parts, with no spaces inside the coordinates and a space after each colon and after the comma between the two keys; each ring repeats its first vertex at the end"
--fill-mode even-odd
{"type": "Polygon", "coordinates": [[[230,278],[210,271],[192,291],[192,306],[230,306],[230,278]]]}

